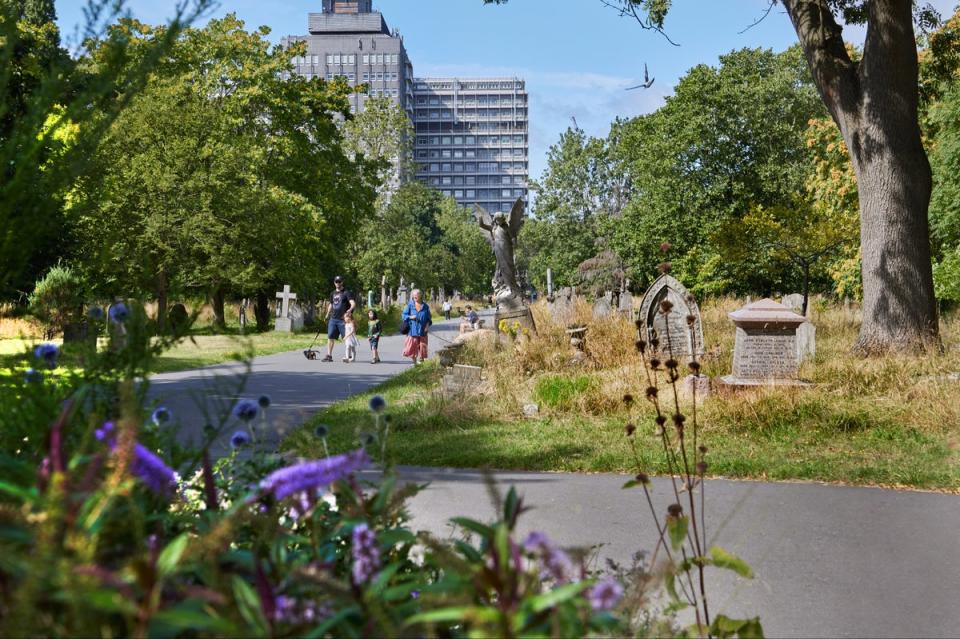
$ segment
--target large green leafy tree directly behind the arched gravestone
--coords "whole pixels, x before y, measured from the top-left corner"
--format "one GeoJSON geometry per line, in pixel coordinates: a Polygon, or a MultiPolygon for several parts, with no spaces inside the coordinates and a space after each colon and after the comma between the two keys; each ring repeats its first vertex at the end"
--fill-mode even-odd
{"type": "Polygon", "coordinates": [[[804,189],[806,130],[824,116],[799,49],[743,49],[691,69],[656,112],[611,133],[631,194],[604,233],[638,279],[669,242],[674,272],[699,293],[775,288],[784,267],[760,251],[724,260],[713,242],[754,206],[804,189]]]}

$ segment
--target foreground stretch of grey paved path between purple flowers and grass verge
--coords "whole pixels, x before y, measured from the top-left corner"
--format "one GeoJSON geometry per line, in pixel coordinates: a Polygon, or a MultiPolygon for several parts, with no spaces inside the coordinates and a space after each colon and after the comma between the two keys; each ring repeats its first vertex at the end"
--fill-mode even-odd
{"type": "MultiPolygon", "coordinates": [[[[476,471],[402,469],[430,486],[414,524],[449,534],[447,520],[492,517],[476,471]]],[[[497,473],[533,510],[523,532],[562,545],[604,544],[601,558],[629,565],[656,533],[638,489],[620,475],[497,473]]],[[[673,500],[654,482],[658,507],[673,500]]],[[[956,637],[960,633],[960,497],[809,483],[707,482],[711,543],[743,557],[753,580],[712,571],[711,610],[759,615],[768,637],[956,637]]],[[[660,513],[662,517],[662,512],[660,513]]],[[[662,521],[662,518],[661,518],[662,521]]],[[[602,562],[601,564],[602,565],[602,562]]]]}

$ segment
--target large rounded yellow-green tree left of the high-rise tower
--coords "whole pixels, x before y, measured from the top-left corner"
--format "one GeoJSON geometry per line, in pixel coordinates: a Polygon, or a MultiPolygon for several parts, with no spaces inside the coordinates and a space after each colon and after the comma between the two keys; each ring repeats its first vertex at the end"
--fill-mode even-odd
{"type": "MultiPolygon", "coordinates": [[[[116,27],[149,48],[165,29],[116,27]]],[[[343,154],[345,83],[289,75],[290,52],[235,16],[184,32],[111,127],[72,214],[80,261],[103,293],[205,292],[224,324],[230,292],[301,290],[342,264],[372,210],[366,167],[343,154]],[[137,144],[130,145],[131,140],[137,144]],[[326,256],[326,257],[325,257],[326,256]]],[[[272,297],[272,296],[271,296],[272,297]]]]}

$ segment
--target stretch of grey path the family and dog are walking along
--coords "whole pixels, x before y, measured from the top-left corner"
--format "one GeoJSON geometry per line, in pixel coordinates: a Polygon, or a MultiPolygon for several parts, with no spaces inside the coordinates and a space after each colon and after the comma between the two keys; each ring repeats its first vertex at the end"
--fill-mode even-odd
{"type": "MultiPolygon", "coordinates": [[[[458,330],[458,319],[437,321],[430,331],[431,356],[445,345],[444,340],[456,337],[458,330]]],[[[150,378],[150,394],[170,408],[180,422],[183,442],[199,441],[206,424],[219,426],[237,398],[268,395],[271,406],[264,440],[276,443],[323,407],[366,391],[412,366],[409,359],[400,355],[403,339],[402,335],[381,338],[379,364],[369,363],[370,350],[366,340],[361,339],[359,357],[353,363],[341,361],[343,344],[334,348],[332,362],[308,360],[303,351],[276,353],[254,358],[246,378],[245,367],[239,363],[154,375],[150,378]]],[[[315,348],[321,349],[321,357],[326,354],[325,343],[315,348]]],[[[234,426],[232,418],[224,424],[211,449],[214,457],[230,450],[228,442],[234,426]]]]}

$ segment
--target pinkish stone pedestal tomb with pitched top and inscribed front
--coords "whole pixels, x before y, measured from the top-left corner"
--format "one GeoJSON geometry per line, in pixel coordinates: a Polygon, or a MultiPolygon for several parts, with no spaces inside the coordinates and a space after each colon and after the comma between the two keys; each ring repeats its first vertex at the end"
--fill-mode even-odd
{"type": "Polygon", "coordinates": [[[798,328],[806,319],[771,299],[747,304],[729,314],[737,334],[730,386],[808,385],[797,379],[801,346],[798,328]]]}

